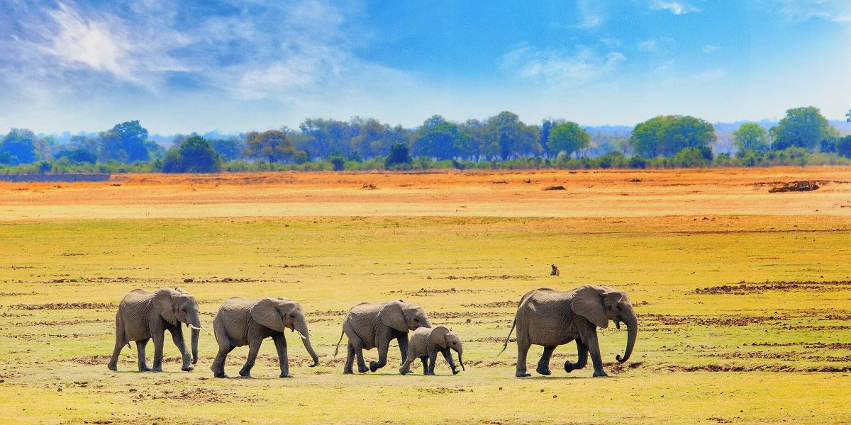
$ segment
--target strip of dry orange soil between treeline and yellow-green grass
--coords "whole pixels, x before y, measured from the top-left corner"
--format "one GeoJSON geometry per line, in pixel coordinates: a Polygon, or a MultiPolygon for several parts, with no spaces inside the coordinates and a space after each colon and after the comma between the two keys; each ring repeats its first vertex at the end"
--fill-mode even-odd
{"type": "Polygon", "coordinates": [[[126,174],[107,182],[0,183],[0,220],[6,221],[701,214],[848,216],[851,168],[126,174]],[[821,187],[811,192],[768,193],[775,184],[794,180],[818,180],[821,187]],[[544,190],[557,185],[565,190],[544,190]]]}

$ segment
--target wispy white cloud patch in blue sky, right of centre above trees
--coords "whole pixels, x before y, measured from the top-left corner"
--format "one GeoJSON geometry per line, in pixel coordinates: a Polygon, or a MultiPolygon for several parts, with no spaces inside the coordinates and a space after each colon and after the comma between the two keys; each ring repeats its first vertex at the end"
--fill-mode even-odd
{"type": "Polygon", "coordinates": [[[625,60],[626,56],[618,52],[602,56],[584,47],[574,54],[563,54],[522,46],[504,54],[500,65],[516,77],[565,87],[606,76],[625,60]]]}

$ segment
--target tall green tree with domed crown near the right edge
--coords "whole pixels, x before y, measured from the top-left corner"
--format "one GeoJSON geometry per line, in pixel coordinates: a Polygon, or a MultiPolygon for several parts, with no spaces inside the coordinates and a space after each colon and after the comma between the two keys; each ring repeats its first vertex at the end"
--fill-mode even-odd
{"type": "Polygon", "coordinates": [[[807,106],[786,111],[786,116],[769,130],[774,144],[772,149],[784,150],[791,146],[814,149],[822,139],[838,134],[819,108],[807,106]]]}

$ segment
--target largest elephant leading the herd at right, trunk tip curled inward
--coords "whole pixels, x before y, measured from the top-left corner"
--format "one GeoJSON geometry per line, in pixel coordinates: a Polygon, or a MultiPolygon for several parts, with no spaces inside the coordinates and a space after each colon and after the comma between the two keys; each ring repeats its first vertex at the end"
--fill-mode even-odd
{"type": "MultiPolygon", "coordinates": [[[[540,288],[527,292],[520,299],[517,314],[508,337],[505,337],[502,351],[508,346],[511,332],[517,326],[517,377],[528,377],[526,354],[532,344],[544,346],[536,371],[549,375],[550,357],[558,345],[576,341],[579,359],[576,363],[564,362],[564,371],[568,373],[582,369],[591,353],[595,377],[608,376],[603,371],[600,346],[597,343],[597,327],[605,329],[608,320],[620,329],[620,322],[626,324],[626,352],[615,359],[623,363],[629,360],[635,347],[638,331],[636,314],[632,310],[630,298],[626,292],[615,291],[607,286],[583,285],[572,291],[557,291],[540,288]]],[[[500,354],[502,353],[500,351],[500,354]]]]}

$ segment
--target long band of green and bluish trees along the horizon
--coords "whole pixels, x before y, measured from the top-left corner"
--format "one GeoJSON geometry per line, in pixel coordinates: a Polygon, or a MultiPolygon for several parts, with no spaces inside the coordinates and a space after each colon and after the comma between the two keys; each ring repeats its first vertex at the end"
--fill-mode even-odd
{"type": "MultiPolygon", "coordinates": [[[[851,118],[849,118],[851,119],[851,118]]],[[[629,134],[589,133],[576,122],[522,122],[505,111],[483,121],[431,116],[420,127],[374,118],[309,118],[226,139],[179,135],[167,150],[138,121],[66,144],[12,129],[0,141],[3,173],[214,173],[268,170],[412,170],[429,168],[758,167],[848,164],[851,136],[814,107],[786,111],[771,128],[745,123],[733,133],[735,155],[716,155],[711,122],[655,116],[629,134]],[[593,141],[592,141],[593,140],[593,141]]]]}

